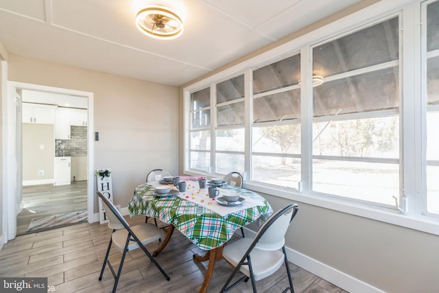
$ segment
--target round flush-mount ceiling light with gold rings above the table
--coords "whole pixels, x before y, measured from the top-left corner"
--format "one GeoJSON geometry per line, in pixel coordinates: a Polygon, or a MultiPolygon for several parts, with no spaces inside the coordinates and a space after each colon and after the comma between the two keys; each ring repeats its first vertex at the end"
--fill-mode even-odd
{"type": "Polygon", "coordinates": [[[161,40],[177,38],[183,33],[180,16],[161,5],[151,5],[137,12],[136,25],[143,34],[161,40]]]}

